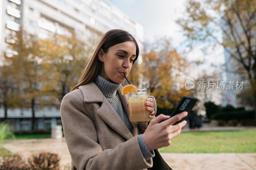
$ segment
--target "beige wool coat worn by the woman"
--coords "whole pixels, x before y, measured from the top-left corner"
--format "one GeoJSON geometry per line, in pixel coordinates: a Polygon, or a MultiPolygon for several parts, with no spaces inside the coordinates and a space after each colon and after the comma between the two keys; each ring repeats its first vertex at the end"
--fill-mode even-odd
{"type": "MultiPolygon", "coordinates": [[[[120,96],[129,117],[127,95],[120,96]]],[[[72,169],[146,170],[153,166],[145,160],[138,135],[145,129],[132,123],[132,133],[120,116],[91,82],[66,94],[60,107],[63,131],[72,159],[72,169]]]]}

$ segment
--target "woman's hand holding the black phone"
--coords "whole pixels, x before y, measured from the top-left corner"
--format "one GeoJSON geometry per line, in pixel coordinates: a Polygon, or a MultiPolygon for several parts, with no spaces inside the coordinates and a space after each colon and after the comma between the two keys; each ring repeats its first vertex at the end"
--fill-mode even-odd
{"type": "Polygon", "coordinates": [[[172,143],[171,139],[180,135],[181,128],[187,124],[187,121],[182,121],[176,125],[172,124],[181,120],[187,115],[188,112],[181,112],[180,114],[168,119],[166,115],[161,114],[152,119],[147,129],[142,134],[142,139],[148,147],[148,150],[152,151],[153,149],[169,146],[172,143]]]}

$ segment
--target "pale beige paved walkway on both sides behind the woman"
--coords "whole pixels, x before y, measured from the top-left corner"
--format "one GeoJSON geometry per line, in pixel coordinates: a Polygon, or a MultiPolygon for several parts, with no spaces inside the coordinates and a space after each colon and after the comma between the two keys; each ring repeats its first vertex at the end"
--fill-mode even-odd
{"type": "MultiPolygon", "coordinates": [[[[60,155],[60,165],[71,166],[71,157],[65,138],[6,140],[4,147],[19,153],[24,159],[38,152],[60,155]]],[[[173,170],[256,170],[256,153],[161,153],[173,170]]],[[[0,158],[1,159],[1,158],[0,158]]]]}

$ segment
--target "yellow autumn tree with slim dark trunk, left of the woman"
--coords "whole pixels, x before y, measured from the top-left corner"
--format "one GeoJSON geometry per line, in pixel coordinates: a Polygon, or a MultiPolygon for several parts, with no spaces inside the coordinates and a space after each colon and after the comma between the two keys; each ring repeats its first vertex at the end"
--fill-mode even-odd
{"type": "Polygon", "coordinates": [[[34,130],[35,124],[35,105],[37,101],[44,95],[41,92],[41,85],[44,81],[42,74],[40,48],[38,37],[31,35],[25,31],[19,31],[16,35],[9,35],[12,39],[16,39],[14,44],[10,44],[12,50],[17,55],[5,57],[5,62],[9,62],[12,69],[16,71],[15,83],[19,86],[21,94],[20,107],[30,107],[32,114],[31,129],[34,130]]]}

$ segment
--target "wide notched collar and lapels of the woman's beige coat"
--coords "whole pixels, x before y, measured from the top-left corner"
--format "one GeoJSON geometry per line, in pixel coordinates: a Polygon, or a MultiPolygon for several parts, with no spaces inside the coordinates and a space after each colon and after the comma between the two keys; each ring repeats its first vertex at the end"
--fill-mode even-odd
{"type": "MultiPolygon", "coordinates": [[[[86,85],[82,85],[78,87],[83,94],[84,102],[87,103],[99,103],[101,102],[100,108],[96,110],[96,113],[101,117],[101,119],[106,122],[112,129],[114,129],[121,136],[126,138],[127,140],[134,137],[138,134],[138,125],[136,123],[132,123],[133,130],[132,133],[126,127],[120,116],[116,113],[115,109],[108,102],[106,97],[102,94],[98,86],[91,82],[86,85]]],[[[126,105],[128,103],[128,96],[121,95],[123,86],[117,89],[117,92],[120,96],[121,103],[124,107],[125,113],[129,118],[129,110],[126,105]]]]}

